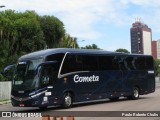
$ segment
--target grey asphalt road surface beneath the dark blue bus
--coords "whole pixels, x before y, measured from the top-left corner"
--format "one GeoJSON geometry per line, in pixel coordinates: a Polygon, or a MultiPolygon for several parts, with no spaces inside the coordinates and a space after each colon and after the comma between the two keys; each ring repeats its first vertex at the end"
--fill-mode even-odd
{"type": "MultiPolygon", "coordinates": [[[[120,98],[120,100],[114,102],[105,100],[101,102],[74,105],[70,109],[62,109],[61,107],[50,107],[47,110],[43,111],[39,110],[38,108],[12,107],[12,105],[8,103],[0,105],[0,111],[17,111],[18,113],[40,113],[41,115],[50,116],[63,116],[63,114],[67,114],[76,116],[75,120],[160,120],[160,84],[157,84],[156,86],[157,88],[154,93],[142,95],[138,100],[128,100],[126,98],[120,98]]],[[[0,120],[3,119],[30,120],[31,118],[0,118],[0,120]]],[[[42,118],[35,117],[34,120],[42,120],[42,118]]],[[[66,118],[64,118],[63,120],[66,120],[66,118]]]]}

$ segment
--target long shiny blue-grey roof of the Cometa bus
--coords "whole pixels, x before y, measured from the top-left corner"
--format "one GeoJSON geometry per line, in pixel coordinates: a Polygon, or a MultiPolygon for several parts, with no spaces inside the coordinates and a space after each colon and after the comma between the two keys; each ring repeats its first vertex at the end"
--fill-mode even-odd
{"type": "MultiPolygon", "coordinates": [[[[34,58],[45,58],[48,55],[52,55],[55,53],[88,53],[88,54],[119,54],[119,55],[142,55],[142,54],[129,54],[123,52],[111,52],[105,50],[95,50],[95,49],[75,49],[75,48],[54,48],[54,49],[45,49],[36,52],[32,52],[26,55],[23,55],[19,58],[19,60],[27,60],[27,59],[34,59],[34,58]]],[[[144,56],[144,55],[143,55],[144,56]]],[[[146,55],[151,56],[151,55],[146,55]]]]}

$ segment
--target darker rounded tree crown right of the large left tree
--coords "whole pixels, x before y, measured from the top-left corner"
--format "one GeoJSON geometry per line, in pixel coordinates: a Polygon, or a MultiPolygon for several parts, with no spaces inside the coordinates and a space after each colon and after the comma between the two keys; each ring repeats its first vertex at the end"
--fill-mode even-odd
{"type": "Polygon", "coordinates": [[[57,47],[65,35],[63,23],[54,16],[40,17],[40,25],[48,48],[57,47]]]}

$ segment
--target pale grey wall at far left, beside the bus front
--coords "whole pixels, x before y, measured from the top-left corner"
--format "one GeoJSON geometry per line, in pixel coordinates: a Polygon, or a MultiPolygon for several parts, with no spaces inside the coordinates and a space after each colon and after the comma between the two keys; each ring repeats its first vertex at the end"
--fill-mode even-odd
{"type": "Polygon", "coordinates": [[[0,101],[11,98],[11,81],[0,82],[0,101]]]}

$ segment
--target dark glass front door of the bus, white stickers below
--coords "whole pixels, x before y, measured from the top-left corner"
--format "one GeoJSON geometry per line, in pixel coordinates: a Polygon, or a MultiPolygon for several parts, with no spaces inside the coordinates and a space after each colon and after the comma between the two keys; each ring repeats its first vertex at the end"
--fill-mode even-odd
{"type": "Polygon", "coordinates": [[[55,102],[53,96],[56,96],[57,93],[57,92],[55,93],[54,91],[59,91],[56,90],[57,75],[58,75],[56,62],[42,63],[38,66],[37,70],[39,77],[39,87],[37,91],[42,92],[46,90],[45,94],[39,99],[44,104],[53,104],[53,102],[55,102]]]}

